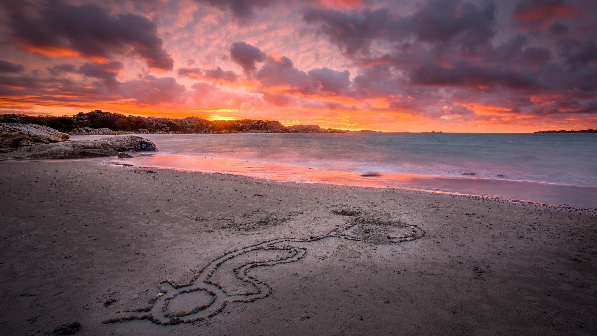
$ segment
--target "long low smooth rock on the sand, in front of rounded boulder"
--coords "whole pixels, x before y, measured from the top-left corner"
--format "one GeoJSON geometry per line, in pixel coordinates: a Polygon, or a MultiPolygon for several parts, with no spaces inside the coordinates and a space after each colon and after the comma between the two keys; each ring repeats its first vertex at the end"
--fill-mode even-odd
{"type": "Polygon", "coordinates": [[[72,140],[43,145],[21,146],[0,158],[89,158],[110,157],[118,152],[158,151],[155,143],[140,136],[110,136],[99,140],[72,140]]]}

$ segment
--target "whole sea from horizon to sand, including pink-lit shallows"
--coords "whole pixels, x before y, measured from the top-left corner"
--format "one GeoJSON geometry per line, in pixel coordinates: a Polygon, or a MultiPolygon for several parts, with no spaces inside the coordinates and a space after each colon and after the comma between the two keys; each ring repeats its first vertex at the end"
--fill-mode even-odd
{"type": "MultiPolygon", "coordinates": [[[[133,166],[233,173],[272,181],[402,187],[597,207],[597,134],[141,136],[155,142],[159,152],[104,163],[126,161],[133,166]]],[[[71,139],[102,137],[72,136],[71,139]]]]}

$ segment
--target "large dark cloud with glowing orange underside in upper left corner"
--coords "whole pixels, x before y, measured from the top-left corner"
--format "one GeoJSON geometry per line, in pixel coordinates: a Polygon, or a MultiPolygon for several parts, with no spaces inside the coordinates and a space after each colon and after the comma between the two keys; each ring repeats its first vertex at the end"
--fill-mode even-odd
{"type": "Polygon", "coordinates": [[[162,47],[155,23],[146,17],[112,16],[94,4],[15,3],[7,6],[9,26],[14,42],[24,50],[89,59],[132,53],[151,68],[173,68],[173,59],[162,47]]]}

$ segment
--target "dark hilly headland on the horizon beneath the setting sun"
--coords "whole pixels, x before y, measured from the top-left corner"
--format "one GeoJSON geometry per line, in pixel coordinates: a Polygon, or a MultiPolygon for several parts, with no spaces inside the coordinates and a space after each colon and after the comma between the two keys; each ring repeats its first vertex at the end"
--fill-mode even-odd
{"type": "MultiPolygon", "coordinates": [[[[30,123],[51,127],[71,135],[86,135],[88,128],[107,129],[118,134],[127,133],[349,133],[379,132],[322,129],[317,125],[284,126],[275,120],[205,120],[198,117],[152,118],[103,112],[99,109],[79,112],[72,117],[0,114],[0,123],[30,123]]],[[[103,133],[102,133],[103,134],[103,133]]],[[[106,133],[109,134],[109,133],[106,133]]]]}

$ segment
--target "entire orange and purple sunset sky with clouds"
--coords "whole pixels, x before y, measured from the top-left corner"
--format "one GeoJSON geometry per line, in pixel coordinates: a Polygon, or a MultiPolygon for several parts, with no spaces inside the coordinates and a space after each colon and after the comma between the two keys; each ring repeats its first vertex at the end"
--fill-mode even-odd
{"type": "Polygon", "coordinates": [[[0,113],[597,129],[597,1],[2,0],[0,113]]]}

